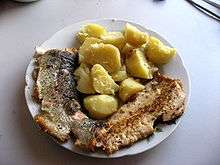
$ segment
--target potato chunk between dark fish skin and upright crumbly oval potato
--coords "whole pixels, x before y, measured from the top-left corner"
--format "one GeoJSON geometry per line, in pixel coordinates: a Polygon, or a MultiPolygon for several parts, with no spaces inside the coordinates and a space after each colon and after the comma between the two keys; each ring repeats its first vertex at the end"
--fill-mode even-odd
{"type": "Polygon", "coordinates": [[[81,64],[74,72],[74,75],[78,78],[76,89],[81,93],[94,94],[92,78],[88,66],[81,64]]]}

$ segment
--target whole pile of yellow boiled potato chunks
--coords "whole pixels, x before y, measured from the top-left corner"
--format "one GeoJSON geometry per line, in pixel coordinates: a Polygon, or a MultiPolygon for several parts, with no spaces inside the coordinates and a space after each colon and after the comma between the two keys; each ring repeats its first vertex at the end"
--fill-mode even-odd
{"type": "Polygon", "coordinates": [[[131,24],[123,32],[108,32],[87,24],[77,34],[80,66],[77,90],[89,96],[84,107],[91,117],[104,119],[144,89],[139,80],[152,79],[156,65],[169,62],[176,50],[131,24]]]}

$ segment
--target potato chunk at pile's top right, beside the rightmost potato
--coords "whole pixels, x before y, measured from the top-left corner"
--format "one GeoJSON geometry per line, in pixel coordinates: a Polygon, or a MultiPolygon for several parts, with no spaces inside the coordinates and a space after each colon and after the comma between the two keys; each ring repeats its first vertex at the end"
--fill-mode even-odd
{"type": "Polygon", "coordinates": [[[125,25],[124,36],[125,40],[134,47],[140,47],[149,39],[149,36],[146,33],[140,31],[129,23],[125,25]]]}

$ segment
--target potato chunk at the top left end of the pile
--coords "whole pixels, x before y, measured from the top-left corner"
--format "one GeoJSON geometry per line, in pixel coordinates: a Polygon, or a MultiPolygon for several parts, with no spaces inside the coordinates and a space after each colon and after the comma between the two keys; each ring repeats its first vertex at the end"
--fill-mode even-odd
{"type": "Polygon", "coordinates": [[[103,26],[90,23],[82,27],[81,31],[77,34],[77,38],[81,43],[83,43],[87,37],[100,38],[106,33],[107,31],[103,26]]]}

